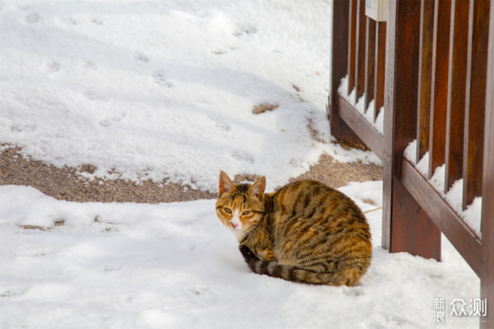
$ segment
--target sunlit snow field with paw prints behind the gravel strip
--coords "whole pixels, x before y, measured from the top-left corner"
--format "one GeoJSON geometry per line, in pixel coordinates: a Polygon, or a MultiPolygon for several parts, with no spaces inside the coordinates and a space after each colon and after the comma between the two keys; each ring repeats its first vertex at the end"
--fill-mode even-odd
{"type": "Polygon", "coordinates": [[[0,143],[24,157],[210,191],[220,170],[281,186],[323,153],[381,163],[329,143],[327,1],[3,0],[0,18],[0,143]]]}

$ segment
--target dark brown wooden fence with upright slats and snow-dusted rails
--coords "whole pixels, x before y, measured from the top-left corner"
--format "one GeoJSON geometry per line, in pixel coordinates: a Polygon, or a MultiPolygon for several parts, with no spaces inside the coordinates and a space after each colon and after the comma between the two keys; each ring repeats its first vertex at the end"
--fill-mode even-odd
{"type": "Polygon", "coordinates": [[[388,0],[387,22],[368,18],[365,4],[333,1],[331,134],[383,161],[382,246],[440,260],[443,232],[481,280],[480,327],[494,328],[494,4],[388,0]],[[365,109],[374,101],[372,115],[355,108],[360,97],[365,109]],[[382,106],[384,135],[370,122],[382,106]],[[414,140],[416,161],[429,157],[425,175],[403,155],[414,140]],[[429,179],[443,164],[436,191],[429,179]],[[481,234],[443,198],[460,179],[462,210],[482,197],[481,234]]]}

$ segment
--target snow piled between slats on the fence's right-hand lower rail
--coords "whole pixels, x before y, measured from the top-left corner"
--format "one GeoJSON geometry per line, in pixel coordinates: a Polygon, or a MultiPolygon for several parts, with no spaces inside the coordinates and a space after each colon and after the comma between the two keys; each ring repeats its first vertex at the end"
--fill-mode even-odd
{"type": "MultiPolygon", "coordinates": [[[[405,157],[414,164],[415,169],[419,171],[425,179],[429,174],[429,152],[424,154],[419,163],[416,163],[416,140],[410,142],[403,151],[405,157]]],[[[461,219],[482,238],[482,232],[480,232],[480,223],[482,217],[482,197],[475,197],[473,202],[467,206],[466,210],[463,210],[463,179],[457,180],[453,183],[449,191],[445,193],[445,175],[446,164],[437,167],[434,170],[434,175],[428,180],[432,187],[446,200],[447,204],[453,208],[453,210],[460,216],[461,219]]]]}

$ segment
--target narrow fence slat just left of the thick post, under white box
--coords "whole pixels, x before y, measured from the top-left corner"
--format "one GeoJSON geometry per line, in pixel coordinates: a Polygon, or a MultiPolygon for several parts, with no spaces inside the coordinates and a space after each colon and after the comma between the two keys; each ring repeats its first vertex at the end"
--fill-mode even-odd
{"type": "MultiPolygon", "coordinates": [[[[374,122],[384,106],[384,77],[386,73],[386,22],[376,23],[374,122]]],[[[386,128],[384,128],[386,130],[386,128]]]]}

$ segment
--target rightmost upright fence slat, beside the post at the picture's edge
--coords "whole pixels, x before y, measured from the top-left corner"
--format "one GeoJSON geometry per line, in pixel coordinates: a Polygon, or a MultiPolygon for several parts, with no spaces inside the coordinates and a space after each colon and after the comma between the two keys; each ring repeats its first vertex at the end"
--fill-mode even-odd
{"type": "Polygon", "coordinates": [[[482,193],[485,90],[491,1],[471,0],[463,146],[463,210],[482,193]],[[472,79],[473,78],[473,79],[472,79]]]}

